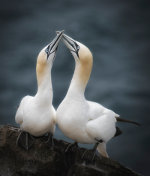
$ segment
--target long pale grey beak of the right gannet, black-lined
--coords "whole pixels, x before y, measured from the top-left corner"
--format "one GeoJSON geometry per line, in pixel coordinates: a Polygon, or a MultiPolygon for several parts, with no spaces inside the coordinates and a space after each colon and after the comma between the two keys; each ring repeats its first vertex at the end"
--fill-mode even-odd
{"type": "MultiPolygon", "coordinates": [[[[60,31],[57,31],[56,33],[59,34],[60,31]]],[[[74,39],[65,34],[63,34],[62,39],[67,48],[69,48],[69,50],[71,51],[71,53],[72,54],[76,53],[76,55],[79,57],[78,51],[80,49],[80,46],[77,44],[77,41],[75,41],[74,39]]]]}

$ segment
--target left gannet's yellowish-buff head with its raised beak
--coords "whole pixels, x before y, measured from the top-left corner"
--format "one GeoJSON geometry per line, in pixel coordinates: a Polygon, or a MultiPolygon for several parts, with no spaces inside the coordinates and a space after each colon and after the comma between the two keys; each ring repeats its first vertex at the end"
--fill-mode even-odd
{"type": "Polygon", "coordinates": [[[58,48],[59,41],[62,38],[62,34],[64,31],[60,31],[59,34],[52,40],[50,44],[45,46],[39,53],[37,57],[37,65],[36,65],[36,72],[37,72],[37,79],[38,83],[41,82],[43,77],[53,65],[53,61],[56,56],[56,51],[58,48]]]}

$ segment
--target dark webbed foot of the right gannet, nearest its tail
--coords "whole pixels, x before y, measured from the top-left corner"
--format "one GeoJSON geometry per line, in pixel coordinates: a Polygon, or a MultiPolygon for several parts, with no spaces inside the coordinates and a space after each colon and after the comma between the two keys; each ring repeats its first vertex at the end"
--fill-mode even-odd
{"type": "Polygon", "coordinates": [[[97,146],[98,146],[99,143],[103,142],[103,140],[97,140],[97,139],[95,139],[95,140],[97,142],[94,145],[93,149],[91,149],[91,150],[85,150],[84,153],[83,153],[83,155],[82,155],[82,157],[81,157],[82,159],[86,159],[86,160],[91,161],[91,162],[94,161],[95,155],[96,155],[97,146]]]}

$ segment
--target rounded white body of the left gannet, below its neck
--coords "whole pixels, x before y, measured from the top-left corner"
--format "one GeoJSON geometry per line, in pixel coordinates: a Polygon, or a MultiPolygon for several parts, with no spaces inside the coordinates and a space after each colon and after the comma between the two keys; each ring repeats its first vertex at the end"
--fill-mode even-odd
{"type": "MultiPolygon", "coordinates": [[[[49,92],[52,94],[52,92],[49,92]]],[[[49,101],[49,100],[48,100],[49,101]]],[[[42,136],[55,131],[55,109],[51,102],[41,102],[37,96],[22,99],[16,113],[16,123],[23,131],[33,136],[42,136]]]]}

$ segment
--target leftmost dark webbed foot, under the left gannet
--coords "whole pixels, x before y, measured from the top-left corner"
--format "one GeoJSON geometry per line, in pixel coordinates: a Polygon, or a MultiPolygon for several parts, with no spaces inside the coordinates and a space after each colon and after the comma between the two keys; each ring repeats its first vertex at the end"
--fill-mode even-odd
{"type": "Polygon", "coordinates": [[[21,131],[16,144],[25,150],[29,150],[34,143],[34,138],[27,132],[21,131]]]}

